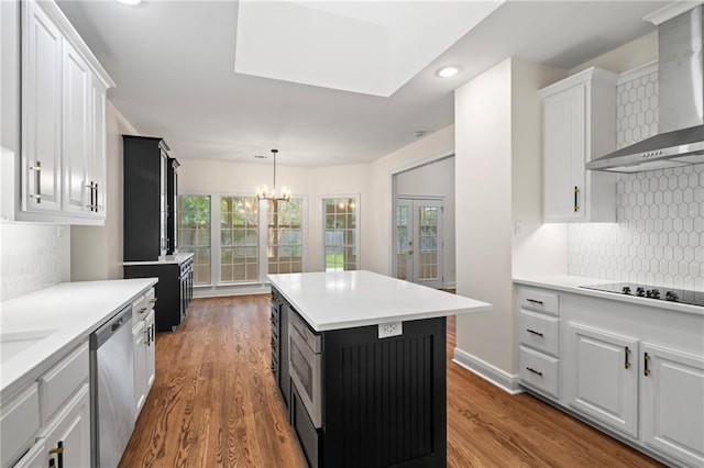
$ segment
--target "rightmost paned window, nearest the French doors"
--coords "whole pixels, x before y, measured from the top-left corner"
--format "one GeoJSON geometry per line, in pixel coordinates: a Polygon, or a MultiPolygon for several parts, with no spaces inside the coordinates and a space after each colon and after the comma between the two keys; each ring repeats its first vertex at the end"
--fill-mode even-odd
{"type": "Polygon", "coordinates": [[[326,198],[324,215],[326,271],[358,268],[356,198],[326,198]]]}

